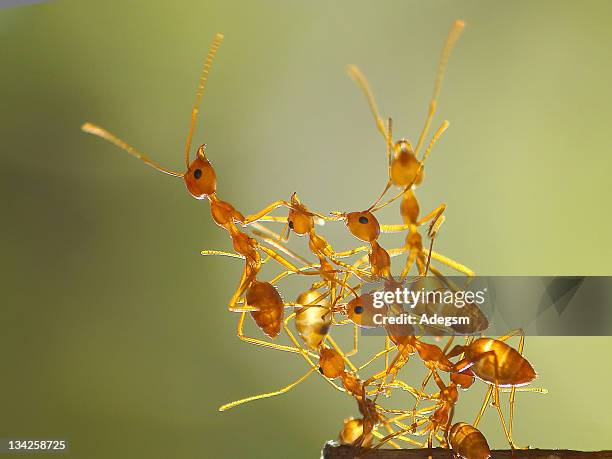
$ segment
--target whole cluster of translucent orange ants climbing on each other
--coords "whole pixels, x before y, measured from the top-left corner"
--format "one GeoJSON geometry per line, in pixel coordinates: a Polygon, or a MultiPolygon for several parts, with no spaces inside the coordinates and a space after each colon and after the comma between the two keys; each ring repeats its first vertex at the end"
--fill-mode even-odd
{"type": "MultiPolygon", "coordinates": [[[[99,126],[91,123],[83,125],[82,129],[85,132],[110,141],[156,170],[181,177],[191,196],[209,202],[212,218],[217,225],[227,231],[234,252],[205,250],[202,254],[223,255],[244,260],[240,282],[228,304],[230,311],[240,313],[237,330],[239,338],[251,344],[299,354],[309,366],[306,374],[286,387],[228,403],[220,407],[221,411],[285,393],[311,374],[318,372],[331,386],[353,397],[357,402],[360,417],[344,421],[339,436],[342,444],[362,447],[363,451],[367,452],[386,444],[399,448],[398,442],[432,448],[436,440],[440,446],[451,448],[457,457],[484,459],[490,457],[491,453],[487,440],[477,427],[486,408],[492,405],[498,412],[510,447],[516,448],[512,438],[515,394],[517,391],[545,392],[545,390],[523,387],[536,378],[536,372],[522,355],[524,347],[522,331],[516,330],[498,338],[478,335],[478,332],[487,328],[488,323],[475,304],[468,306],[476,320],[468,330],[454,330],[463,335],[461,338],[463,344],[455,345],[452,349],[451,345],[456,337],[454,333],[450,335],[446,345],[440,347],[436,344],[440,343],[439,338],[433,340],[434,343],[425,342],[423,336],[420,336],[409,324],[385,325],[385,347],[382,351],[360,367],[356,367],[350,359],[357,353],[358,330],[374,326],[373,314],[379,312],[373,310],[371,294],[362,292],[364,282],[380,281],[385,289],[394,290],[397,286],[404,285],[407,276],[414,268],[418,275],[411,280],[415,283],[413,285],[423,281],[431,273],[432,276],[427,279],[436,279],[443,283],[445,288],[456,288],[436,268],[436,263],[446,265],[464,275],[466,279],[474,275],[466,266],[433,251],[433,241],[444,221],[443,213],[446,206],[441,204],[429,214],[421,216],[415,195],[416,188],[424,178],[425,161],[437,139],[449,125],[447,121],[442,123],[419,158],[419,151],[423,147],[436,111],[437,98],[450,52],[463,27],[463,21],[456,21],[449,32],[440,57],[427,120],[414,148],[406,139],[396,142],[392,140],[392,120],[389,118],[383,121],[379,115],[368,83],[359,69],[355,66],[348,68],[349,75],[363,91],[376,127],[385,140],[388,160],[387,184],[379,198],[366,210],[331,212],[325,215],[310,210],[294,193],[288,201],[273,202],[259,212],[245,216],[232,204],[218,197],[216,173],[206,156],[206,146],[198,148],[193,160],[190,160],[190,150],[210,66],[223,40],[221,34],[215,36],[210,47],[191,112],[185,146],[186,172],[175,172],[162,167],[99,126]],[[398,189],[398,192],[385,200],[393,188],[398,189]],[[403,223],[380,224],[375,213],[397,200],[400,200],[403,223]],[[282,208],[287,211],[285,215],[272,215],[275,210],[282,208]],[[285,228],[281,232],[275,232],[264,225],[266,222],[281,223],[285,228]],[[335,251],[317,232],[317,227],[325,222],[344,222],[348,231],[366,244],[345,252],[335,251]],[[428,246],[423,242],[422,227],[426,227],[425,234],[430,240],[428,246]],[[308,250],[317,260],[315,263],[286,246],[285,243],[291,232],[305,236],[308,250]],[[403,247],[386,250],[380,245],[381,233],[398,232],[406,233],[403,247]],[[400,255],[403,255],[405,263],[401,274],[394,277],[391,274],[391,260],[400,255]],[[280,272],[269,281],[260,280],[260,270],[268,262],[278,263],[280,272]],[[286,302],[279,294],[276,285],[287,276],[311,276],[310,279],[314,279],[314,282],[310,288],[299,294],[295,302],[286,302]],[[356,279],[358,283],[351,284],[352,279],[356,279]],[[287,316],[286,309],[292,310],[287,316]],[[244,323],[247,315],[253,318],[267,339],[245,334],[244,323]],[[299,339],[289,327],[291,321],[299,339]],[[353,349],[349,352],[344,352],[330,333],[332,327],[341,325],[353,327],[354,343],[353,349]],[[273,342],[283,330],[292,345],[273,342]],[[519,338],[517,349],[507,344],[508,339],[513,336],[519,338]],[[400,370],[412,356],[420,360],[427,372],[420,387],[413,387],[399,377],[400,370]],[[362,379],[359,373],[379,359],[384,359],[384,368],[369,378],[362,379]],[[456,361],[453,361],[455,359],[456,361]],[[442,377],[443,374],[448,374],[448,382],[442,377]],[[427,385],[432,379],[435,383],[435,392],[429,393],[427,385]],[[487,386],[480,411],[471,424],[453,423],[455,405],[459,398],[458,389],[468,389],[475,379],[484,382],[487,386]],[[388,397],[393,390],[406,392],[414,397],[413,408],[397,410],[383,407],[379,402],[380,396],[388,397]],[[500,392],[510,393],[507,421],[500,403],[500,392]],[[424,402],[428,402],[428,406],[420,407],[424,402]]],[[[401,310],[398,305],[394,306],[387,307],[386,313],[393,315],[401,310]]]]}

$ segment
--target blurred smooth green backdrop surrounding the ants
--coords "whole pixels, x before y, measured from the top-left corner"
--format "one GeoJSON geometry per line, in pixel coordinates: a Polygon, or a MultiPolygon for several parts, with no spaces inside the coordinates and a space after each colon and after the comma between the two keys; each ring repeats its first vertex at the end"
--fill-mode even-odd
{"type": "MultiPolygon", "coordinates": [[[[424,209],[448,204],[437,248],[479,274],[609,275],[611,15],[607,1],[1,10],[0,437],[67,438],[79,458],[314,458],[357,414],[319,377],[217,412],[305,364],[236,338],[225,304],[242,262],[199,255],[231,248],[207,206],[79,130],[99,123],[181,167],[217,31],[226,41],[195,142],[208,145],[220,196],[248,213],[298,191],[328,212],[369,205],[386,173],[346,64],[361,66],[396,133],[415,139],[448,28],[464,19],[434,121],[451,128],[418,193],[424,209]]],[[[398,222],[394,212],[385,221],[398,222]]],[[[337,231],[339,249],[355,245],[337,231]]],[[[536,385],[550,393],[519,394],[519,444],[612,448],[611,344],[527,340],[536,385]]],[[[462,394],[462,410],[482,393],[462,394]]],[[[482,430],[506,446],[493,410],[482,430]]]]}

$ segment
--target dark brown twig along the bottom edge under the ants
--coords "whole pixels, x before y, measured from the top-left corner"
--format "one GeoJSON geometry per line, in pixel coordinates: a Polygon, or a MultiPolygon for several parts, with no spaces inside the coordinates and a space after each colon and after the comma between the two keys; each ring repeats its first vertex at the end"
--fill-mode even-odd
{"type": "MultiPolygon", "coordinates": [[[[327,442],[323,447],[323,459],[453,459],[452,451],[433,449],[377,449],[338,446],[327,442]]],[[[564,449],[494,450],[492,459],[612,459],[612,451],[570,451],[564,449]]]]}

